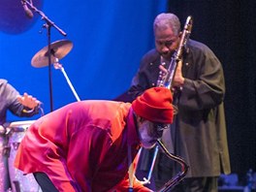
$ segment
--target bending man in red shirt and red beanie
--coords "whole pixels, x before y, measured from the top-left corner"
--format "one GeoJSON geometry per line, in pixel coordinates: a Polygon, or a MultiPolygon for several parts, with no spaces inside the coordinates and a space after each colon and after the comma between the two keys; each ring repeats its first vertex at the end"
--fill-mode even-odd
{"type": "Polygon", "coordinates": [[[131,185],[134,191],[150,191],[129,179],[128,169],[140,147],[153,147],[173,122],[172,102],[169,89],[154,87],[132,104],[67,105],[30,126],[15,166],[33,173],[44,192],[128,191],[131,185]]]}

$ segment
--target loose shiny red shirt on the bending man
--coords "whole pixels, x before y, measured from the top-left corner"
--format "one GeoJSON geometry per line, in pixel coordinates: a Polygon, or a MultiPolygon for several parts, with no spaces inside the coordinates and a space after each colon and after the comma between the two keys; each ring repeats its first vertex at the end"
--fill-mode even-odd
{"type": "MultiPolygon", "coordinates": [[[[123,191],[128,187],[128,144],[140,140],[131,104],[82,101],[32,124],[16,154],[24,174],[44,172],[59,191],[123,191]]],[[[135,191],[149,191],[134,183],[135,191]]]]}

